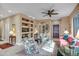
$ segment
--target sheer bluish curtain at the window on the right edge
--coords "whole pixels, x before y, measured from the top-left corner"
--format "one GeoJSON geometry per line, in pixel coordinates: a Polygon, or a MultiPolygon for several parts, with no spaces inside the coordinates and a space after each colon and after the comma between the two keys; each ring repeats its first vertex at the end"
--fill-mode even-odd
{"type": "Polygon", "coordinates": [[[78,29],[79,29],[79,14],[77,14],[73,18],[73,35],[74,36],[77,34],[78,29]]]}

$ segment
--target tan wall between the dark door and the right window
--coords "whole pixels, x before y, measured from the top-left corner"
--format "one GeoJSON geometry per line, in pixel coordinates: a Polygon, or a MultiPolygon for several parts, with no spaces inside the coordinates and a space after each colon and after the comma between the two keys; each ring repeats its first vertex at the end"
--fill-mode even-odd
{"type": "Polygon", "coordinates": [[[69,33],[71,34],[71,27],[70,27],[70,18],[67,17],[63,17],[60,20],[60,35],[64,34],[65,29],[67,29],[69,31],[69,33]]]}

